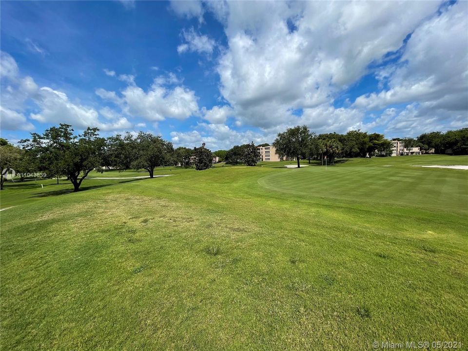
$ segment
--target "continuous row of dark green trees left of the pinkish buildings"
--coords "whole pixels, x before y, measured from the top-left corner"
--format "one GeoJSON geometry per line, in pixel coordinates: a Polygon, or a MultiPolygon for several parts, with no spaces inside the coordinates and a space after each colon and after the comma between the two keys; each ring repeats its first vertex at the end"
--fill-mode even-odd
{"type": "Polygon", "coordinates": [[[103,138],[97,128],[87,128],[75,135],[71,125],[60,124],[46,129],[43,134],[31,133],[29,139],[20,141],[20,147],[0,142],[1,189],[9,170],[19,175],[30,170],[41,171],[49,178],[66,176],[78,191],[88,174],[104,168],[119,170],[144,169],[150,178],[156,167],[182,166],[205,170],[213,164],[213,154],[203,143],[193,149],[179,147],[162,137],[139,132],[136,136],[103,138]]]}

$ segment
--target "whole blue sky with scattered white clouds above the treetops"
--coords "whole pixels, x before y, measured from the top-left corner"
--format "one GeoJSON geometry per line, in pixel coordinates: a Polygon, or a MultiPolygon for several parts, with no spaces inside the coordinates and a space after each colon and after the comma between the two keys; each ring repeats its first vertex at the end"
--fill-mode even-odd
{"type": "Polygon", "coordinates": [[[468,126],[466,2],[2,1],[1,136],[60,122],[216,150],[289,126],[468,126]]]}

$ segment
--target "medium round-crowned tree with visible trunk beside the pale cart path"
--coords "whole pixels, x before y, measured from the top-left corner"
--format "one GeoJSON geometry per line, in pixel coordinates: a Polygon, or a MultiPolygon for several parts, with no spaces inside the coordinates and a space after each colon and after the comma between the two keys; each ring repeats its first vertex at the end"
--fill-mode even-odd
{"type": "Polygon", "coordinates": [[[156,167],[168,166],[174,153],[172,143],[151,133],[139,132],[133,143],[132,168],[148,171],[154,177],[156,167]]]}

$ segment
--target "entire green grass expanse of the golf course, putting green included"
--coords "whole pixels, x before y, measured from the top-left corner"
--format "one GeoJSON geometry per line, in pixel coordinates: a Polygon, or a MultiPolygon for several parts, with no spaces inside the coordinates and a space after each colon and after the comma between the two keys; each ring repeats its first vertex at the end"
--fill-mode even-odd
{"type": "Polygon", "coordinates": [[[8,183],[2,349],[466,347],[468,157],[344,161],[8,183]]]}

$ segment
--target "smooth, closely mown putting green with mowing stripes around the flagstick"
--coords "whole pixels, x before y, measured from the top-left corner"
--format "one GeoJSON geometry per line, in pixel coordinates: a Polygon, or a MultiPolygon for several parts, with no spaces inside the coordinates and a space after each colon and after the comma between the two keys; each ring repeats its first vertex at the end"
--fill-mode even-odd
{"type": "Polygon", "coordinates": [[[467,212],[468,174],[404,167],[307,167],[264,176],[270,190],[300,196],[467,212]]]}

